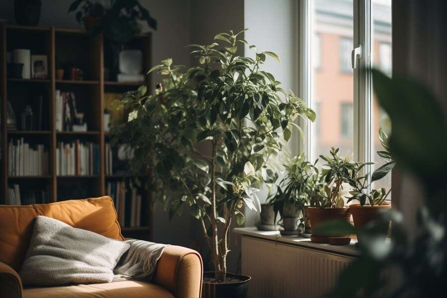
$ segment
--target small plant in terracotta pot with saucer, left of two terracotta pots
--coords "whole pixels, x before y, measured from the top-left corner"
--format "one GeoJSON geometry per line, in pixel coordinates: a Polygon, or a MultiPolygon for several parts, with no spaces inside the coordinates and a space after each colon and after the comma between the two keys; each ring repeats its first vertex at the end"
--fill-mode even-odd
{"type": "Polygon", "coordinates": [[[327,234],[324,232],[317,232],[319,224],[331,221],[342,220],[349,222],[351,213],[349,208],[344,207],[345,203],[342,198],[342,190],[344,183],[344,176],[353,167],[354,162],[351,162],[348,157],[341,158],[338,154],[338,148],[330,149],[330,157],[327,155],[320,155],[327,163],[321,170],[320,181],[324,182],[324,191],[326,196],[318,197],[318,200],[313,200],[312,204],[315,207],[308,207],[310,225],[312,235],[310,236],[313,242],[330,243],[335,245],[349,244],[351,238],[349,235],[327,234]]]}

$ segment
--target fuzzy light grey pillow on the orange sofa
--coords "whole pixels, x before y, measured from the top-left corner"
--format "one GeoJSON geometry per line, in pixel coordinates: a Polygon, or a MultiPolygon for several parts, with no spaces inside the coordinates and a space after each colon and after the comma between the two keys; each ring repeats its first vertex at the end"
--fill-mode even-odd
{"type": "Polygon", "coordinates": [[[38,216],[19,275],[26,286],[111,282],[113,269],[129,246],[38,216]]]}

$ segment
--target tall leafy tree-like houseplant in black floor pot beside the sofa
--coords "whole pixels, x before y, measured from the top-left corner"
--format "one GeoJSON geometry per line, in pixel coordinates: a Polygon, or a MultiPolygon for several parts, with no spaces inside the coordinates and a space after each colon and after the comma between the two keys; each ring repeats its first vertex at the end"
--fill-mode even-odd
{"type": "Polygon", "coordinates": [[[186,72],[172,59],[154,66],[149,73],[167,79],[153,95],[146,95],[145,86],[125,93],[121,102],[130,109],[128,122],[111,129],[113,142],[134,149],[133,173],[152,169],[148,187],[169,215],[187,204],[200,222],[214,266],[204,274],[204,296],[246,297],[250,277],[227,273],[231,223],[244,223],[244,206],[260,209],[253,184],[266,160],[259,151],[280,150],[280,138],[290,139],[298,114],[315,118],[302,100],[260,70],[267,56],[279,61],[276,54],[254,46],[254,58],[236,54],[247,44],[242,32],[218,34],[210,45],[190,45],[200,65],[186,72]]]}

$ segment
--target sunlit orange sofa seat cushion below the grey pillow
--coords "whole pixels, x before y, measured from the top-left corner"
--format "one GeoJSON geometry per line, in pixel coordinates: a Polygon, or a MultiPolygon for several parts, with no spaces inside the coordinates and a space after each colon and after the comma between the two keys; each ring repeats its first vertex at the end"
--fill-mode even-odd
{"type": "Polygon", "coordinates": [[[167,290],[142,281],[23,290],[22,298],[174,298],[167,290]]]}

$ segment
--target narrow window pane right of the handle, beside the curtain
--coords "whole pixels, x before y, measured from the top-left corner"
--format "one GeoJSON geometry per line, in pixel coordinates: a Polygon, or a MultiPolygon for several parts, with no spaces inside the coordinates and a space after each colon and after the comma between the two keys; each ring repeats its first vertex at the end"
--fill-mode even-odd
{"type": "MultiPolygon", "coordinates": [[[[373,29],[371,54],[373,67],[381,70],[385,74],[391,75],[391,0],[373,0],[371,12],[373,29]]],[[[389,134],[391,130],[388,115],[380,109],[375,94],[373,94],[372,122],[374,170],[386,162],[386,160],[377,154],[377,151],[383,150],[378,138],[378,130],[381,127],[387,134],[389,134]]],[[[388,173],[382,179],[373,182],[373,188],[377,189],[381,187],[384,187],[386,190],[391,187],[391,173],[388,173]]],[[[390,198],[391,196],[389,195],[387,199],[390,198]]]]}

